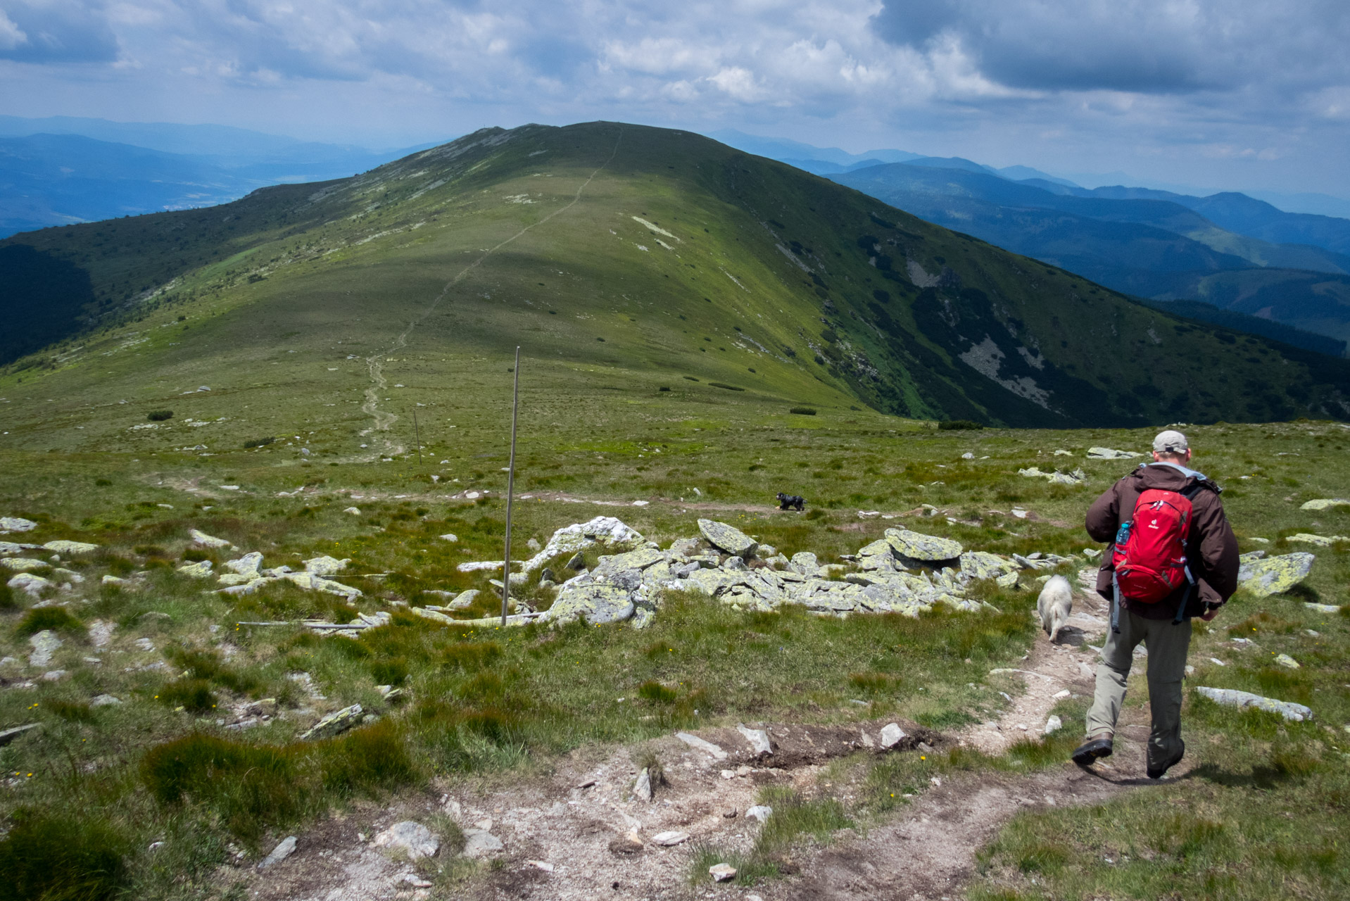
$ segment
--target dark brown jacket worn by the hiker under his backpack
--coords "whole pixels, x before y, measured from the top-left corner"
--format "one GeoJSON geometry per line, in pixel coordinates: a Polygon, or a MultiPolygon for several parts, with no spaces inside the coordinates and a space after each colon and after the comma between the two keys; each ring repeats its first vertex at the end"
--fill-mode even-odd
{"type": "MultiPolygon", "coordinates": [[[[1134,504],[1145,489],[1162,488],[1181,492],[1196,484],[1203,488],[1191,497],[1193,519],[1191,539],[1187,542],[1187,561],[1199,590],[1191,593],[1187,616],[1199,616],[1206,605],[1223,604],[1238,590],[1238,539],[1223,515],[1218,485],[1200,473],[1184,467],[1168,463],[1142,465],[1092,503],[1085,523],[1092,540],[1114,542],[1120,521],[1134,515],[1134,504]]],[[[1111,573],[1115,570],[1111,559],[1112,547],[1108,544],[1102,554],[1102,569],[1098,571],[1098,593],[1107,600],[1112,596],[1111,573]]],[[[1122,598],[1120,607],[1150,620],[1172,619],[1176,616],[1183,592],[1184,586],[1156,604],[1122,598]]]]}

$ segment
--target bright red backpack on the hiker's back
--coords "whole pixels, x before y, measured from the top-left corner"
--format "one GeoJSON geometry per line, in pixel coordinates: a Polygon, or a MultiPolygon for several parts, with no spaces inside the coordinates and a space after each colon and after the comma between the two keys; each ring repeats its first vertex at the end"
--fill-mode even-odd
{"type": "MultiPolygon", "coordinates": [[[[1157,604],[1183,584],[1195,585],[1187,566],[1185,544],[1191,538],[1191,497],[1199,489],[1199,484],[1184,492],[1150,488],[1139,494],[1134,516],[1122,523],[1115,535],[1111,582],[1116,609],[1122,596],[1142,604],[1157,604]]],[[[1181,598],[1176,621],[1181,620],[1189,597],[1188,590],[1181,598]]],[[[1116,627],[1115,617],[1112,627],[1116,627]]]]}

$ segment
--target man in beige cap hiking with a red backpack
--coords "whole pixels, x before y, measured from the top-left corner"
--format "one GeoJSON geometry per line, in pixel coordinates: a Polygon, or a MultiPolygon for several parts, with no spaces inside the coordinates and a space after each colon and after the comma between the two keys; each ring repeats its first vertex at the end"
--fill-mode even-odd
{"type": "Polygon", "coordinates": [[[1098,593],[1111,601],[1111,628],[1098,663],[1087,742],[1073,751],[1079,766],[1111,754],[1139,642],[1149,651],[1149,778],[1162,778],[1185,754],[1181,677],[1191,617],[1212,620],[1238,589],[1238,540],[1223,515],[1220,489],[1189,463],[1185,435],[1160,432],[1153,439],[1153,462],[1088,508],[1088,535],[1114,542],[1103,554],[1096,584],[1098,593]]]}

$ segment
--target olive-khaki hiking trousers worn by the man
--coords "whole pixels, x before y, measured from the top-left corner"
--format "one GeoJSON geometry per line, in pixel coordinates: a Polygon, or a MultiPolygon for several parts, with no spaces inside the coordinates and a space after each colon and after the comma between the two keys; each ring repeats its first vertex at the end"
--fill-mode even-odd
{"type": "Polygon", "coordinates": [[[1191,648],[1189,619],[1174,624],[1170,617],[1149,620],[1120,611],[1120,631],[1107,631],[1102,662],[1098,663],[1087,736],[1095,739],[1115,733],[1115,721],[1125,704],[1125,684],[1139,642],[1149,650],[1149,706],[1153,712],[1149,767],[1161,769],[1181,751],[1181,678],[1191,648]]]}

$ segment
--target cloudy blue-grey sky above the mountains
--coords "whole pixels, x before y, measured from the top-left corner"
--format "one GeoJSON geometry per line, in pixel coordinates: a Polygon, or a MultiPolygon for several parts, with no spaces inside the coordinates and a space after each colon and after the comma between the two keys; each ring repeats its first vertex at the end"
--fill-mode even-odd
{"type": "Polygon", "coordinates": [[[0,113],[618,119],[1350,196],[1347,46],[1345,0],[0,0],[0,113]]]}

